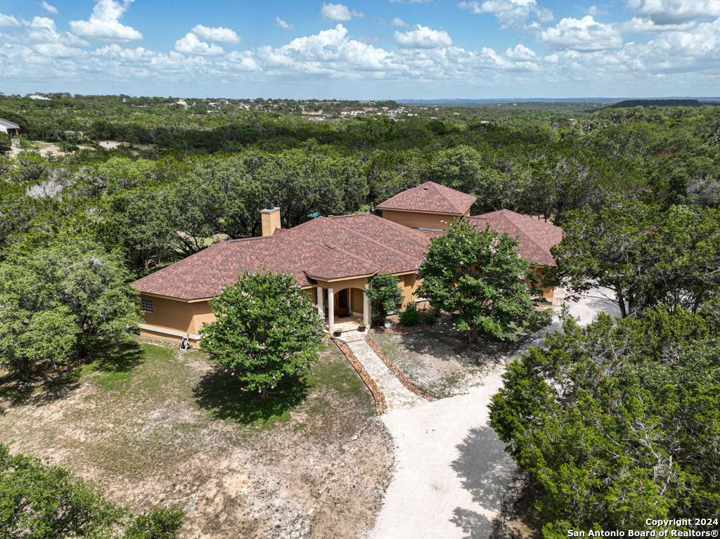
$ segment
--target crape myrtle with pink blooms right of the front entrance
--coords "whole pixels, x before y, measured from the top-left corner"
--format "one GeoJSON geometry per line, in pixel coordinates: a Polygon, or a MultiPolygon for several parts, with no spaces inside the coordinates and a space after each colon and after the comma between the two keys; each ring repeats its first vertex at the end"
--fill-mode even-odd
{"type": "Polygon", "coordinates": [[[417,295],[453,316],[456,330],[467,331],[470,343],[478,333],[517,340],[518,328],[540,328],[551,320],[535,310],[537,276],[518,256],[507,234],[478,231],[465,219],[450,223],[446,235],[431,241],[418,267],[423,279],[417,295]]]}

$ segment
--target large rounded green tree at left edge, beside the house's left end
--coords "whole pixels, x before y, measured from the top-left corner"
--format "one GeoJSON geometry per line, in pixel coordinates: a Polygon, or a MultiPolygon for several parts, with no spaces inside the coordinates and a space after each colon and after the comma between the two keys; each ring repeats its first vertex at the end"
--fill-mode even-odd
{"type": "Polygon", "coordinates": [[[83,238],[6,253],[0,263],[2,362],[27,381],[32,366],[52,368],[68,353],[86,355],[99,340],[136,332],[132,280],[120,253],[83,238]]]}

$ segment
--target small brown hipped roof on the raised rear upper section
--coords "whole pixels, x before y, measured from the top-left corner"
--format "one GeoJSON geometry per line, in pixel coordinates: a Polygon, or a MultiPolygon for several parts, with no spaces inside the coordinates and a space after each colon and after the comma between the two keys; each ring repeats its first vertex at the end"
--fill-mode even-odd
{"type": "Polygon", "coordinates": [[[413,189],[396,194],[377,207],[462,215],[472,206],[475,199],[472,194],[461,193],[434,181],[426,181],[413,189]]]}

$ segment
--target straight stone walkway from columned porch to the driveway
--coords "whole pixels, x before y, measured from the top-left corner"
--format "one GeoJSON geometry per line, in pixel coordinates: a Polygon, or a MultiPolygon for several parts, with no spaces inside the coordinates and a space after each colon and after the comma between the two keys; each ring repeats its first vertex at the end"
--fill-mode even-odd
{"type": "Polygon", "coordinates": [[[428,402],[402,385],[397,376],[387,368],[382,359],[377,357],[374,350],[365,342],[364,333],[343,332],[341,340],[345,341],[348,348],[355,354],[357,361],[362,364],[377,384],[377,388],[384,394],[388,412],[395,409],[413,408],[418,404],[428,402]]]}

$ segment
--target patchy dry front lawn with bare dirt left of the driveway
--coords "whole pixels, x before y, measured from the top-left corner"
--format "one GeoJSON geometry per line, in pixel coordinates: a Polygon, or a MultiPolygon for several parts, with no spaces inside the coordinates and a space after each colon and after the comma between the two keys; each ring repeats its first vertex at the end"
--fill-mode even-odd
{"type": "Polygon", "coordinates": [[[392,450],[336,348],[286,398],[258,408],[201,353],[138,343],[45,386],[0,378],[0,442],[70,468],[131,509],[186,509],[183,538],[372,529],[392,450]]]}

